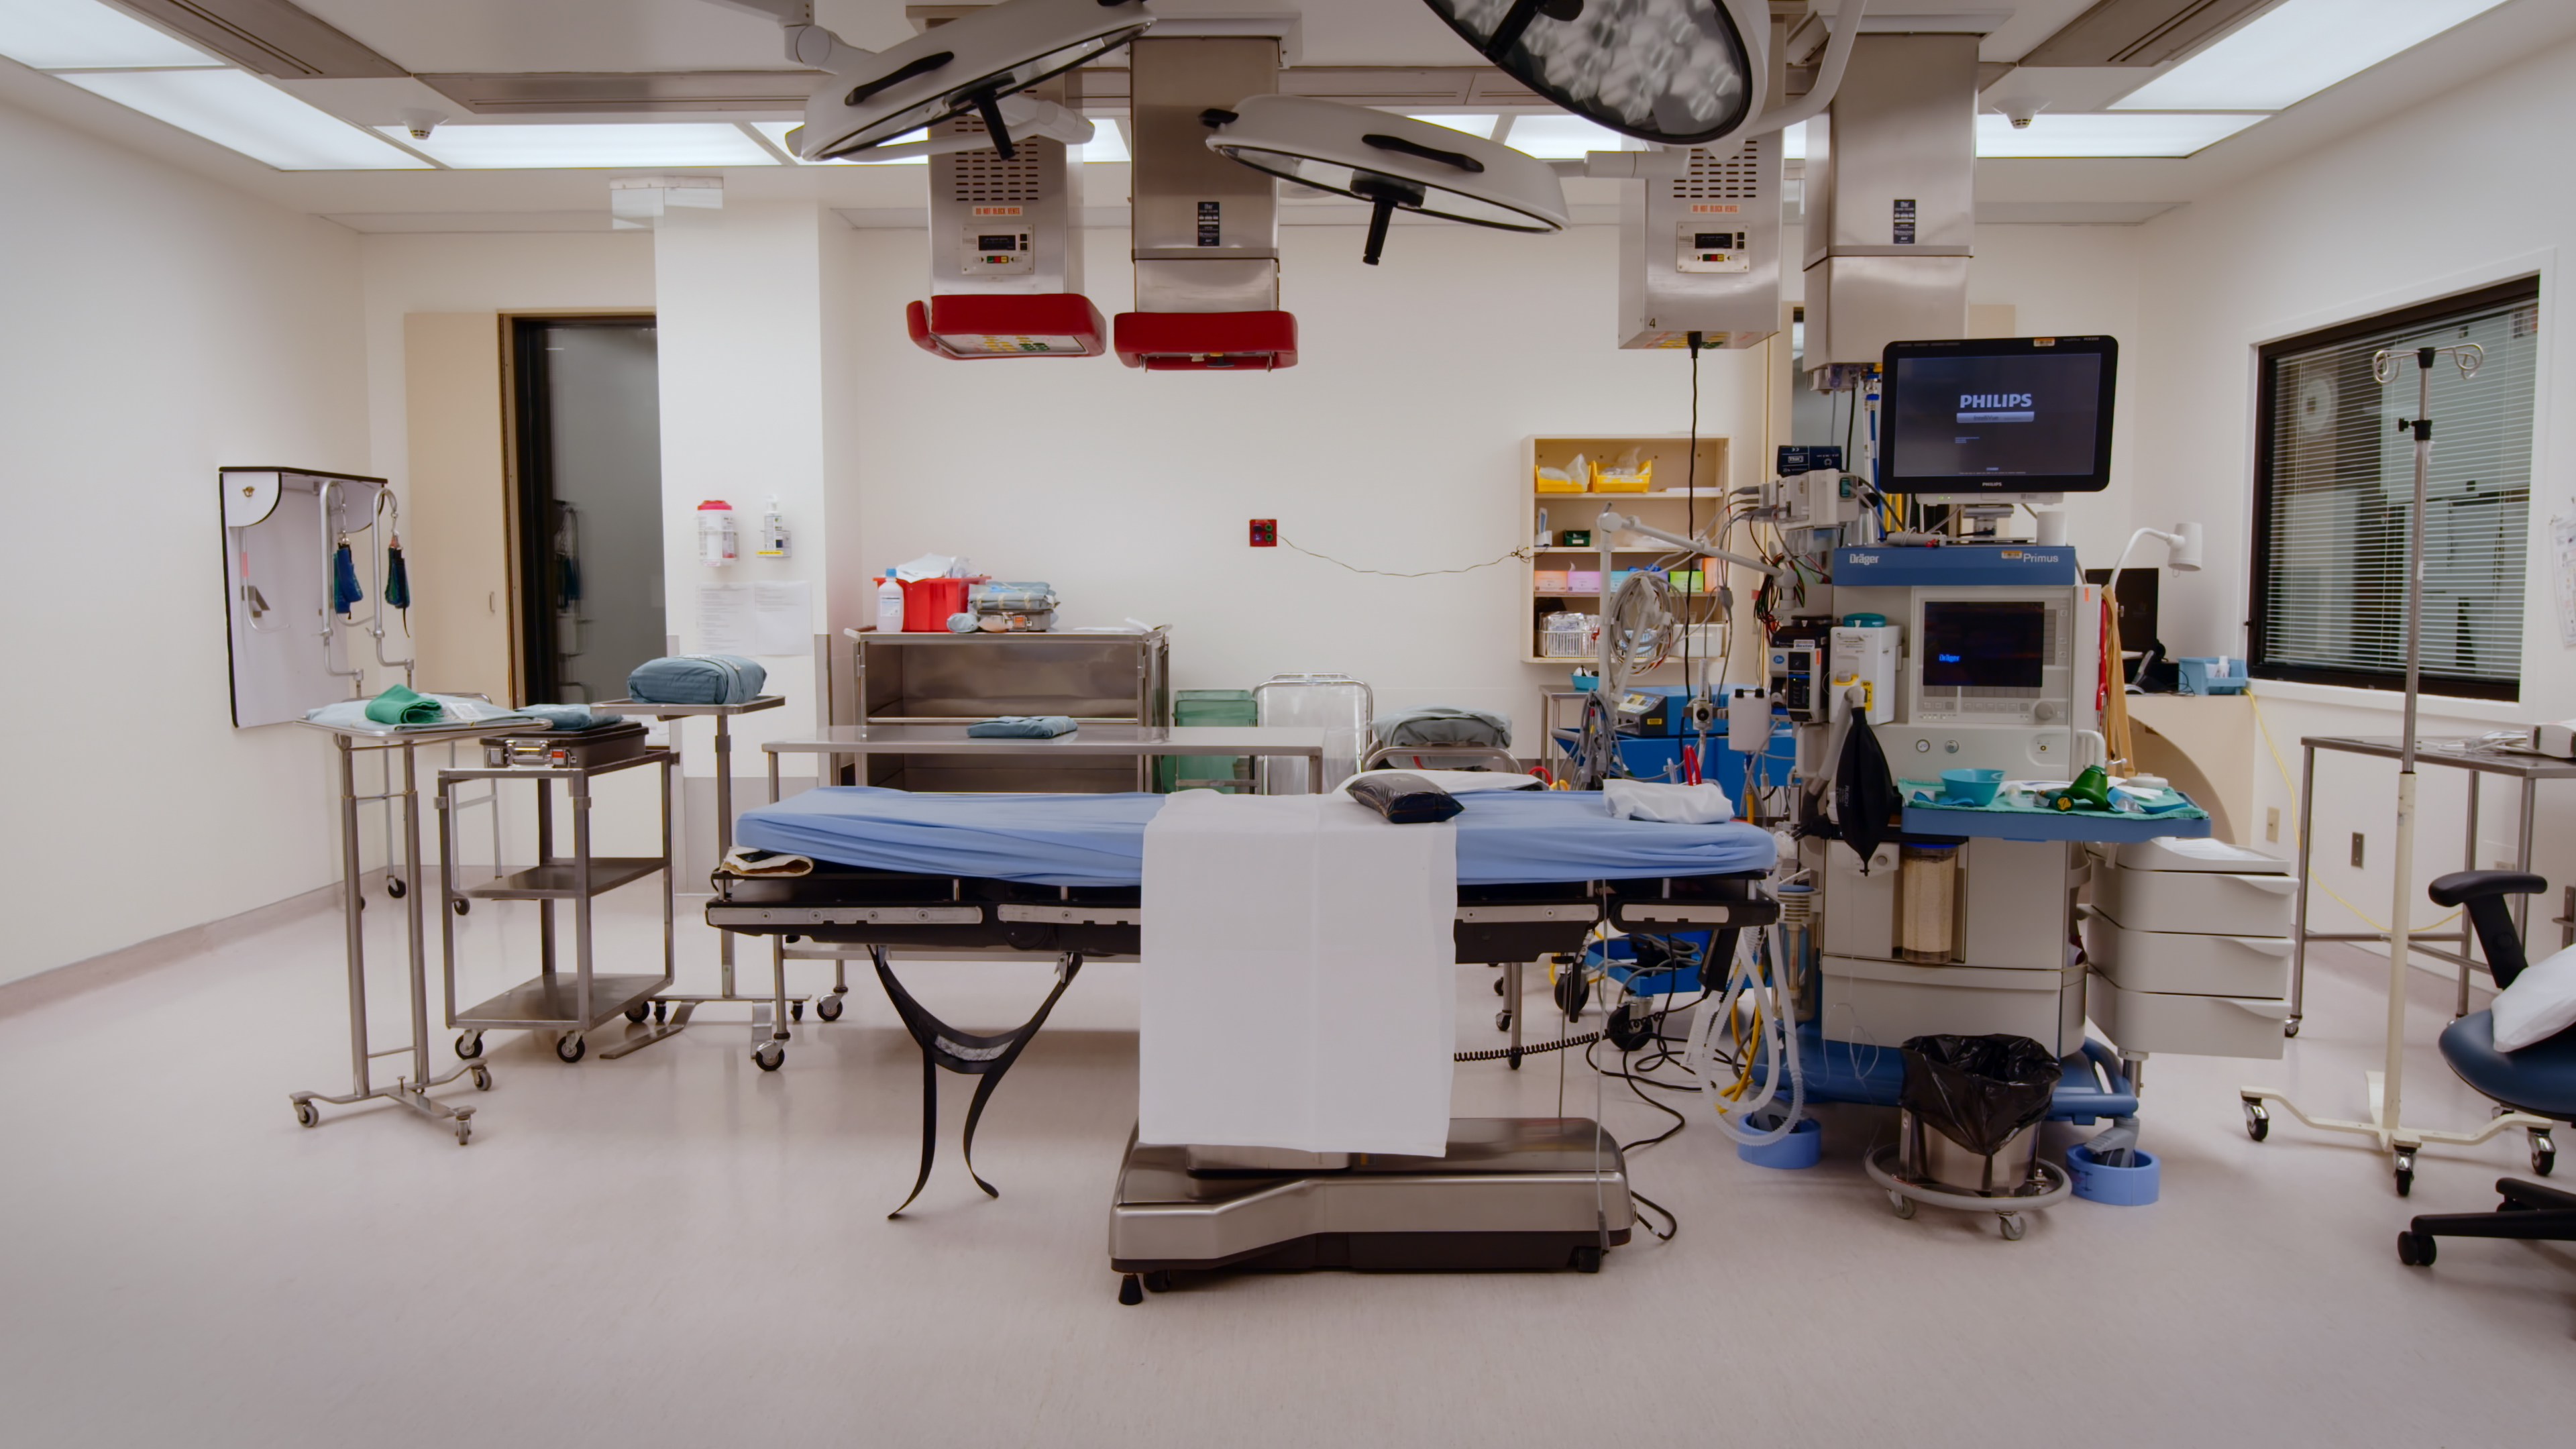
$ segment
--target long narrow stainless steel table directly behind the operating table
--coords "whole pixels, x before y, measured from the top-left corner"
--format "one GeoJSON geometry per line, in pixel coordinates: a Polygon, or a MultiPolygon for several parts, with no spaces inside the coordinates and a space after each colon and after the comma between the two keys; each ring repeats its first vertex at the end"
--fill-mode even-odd
{"type": "MultiPolygon", "coordinates": [[[[1054,740],[979,740],[966,735],[963,724],[832,724],[824,730],[822,740],[768,740],[760,750],[770,758],[770,804],[778,804],[778,755],[824,755],[819,761],[822,771],[814,779],[832,779],[840,761],[832,755],[1133,755],[1139,761],[1139,779],[1144,773],[1144,761],[1154,755],[1296,755],[1314,761],[1306,771],[1306,781],[1314,794],[1324,794],[1324,730],[1309,727],[1283,727],[1283,724],[1082,724],[1072,735],[1056,735],[1054,740]]],[[[866,776],[866,771],[860,771],[866,776]]],[[[866,954],[866,949],[853,946],[853,951],[866,954]]],[[[832,962],[832,1011],[824,1021],[840,1016],[840,1000],[848,995],[848,954],[835,951],[796,951],[799,962],[832,962]]],[[[786,1062],[788,1039],[788,944],[786,936],[770,936],[770,982],[773,982],[773,1016],[770,1039],[752,1049],[752,1060],[760,1070],[775,1073],[786,1062]]],[[[822,1011],[817,1006],[817,1011],[822,1011]]]]}

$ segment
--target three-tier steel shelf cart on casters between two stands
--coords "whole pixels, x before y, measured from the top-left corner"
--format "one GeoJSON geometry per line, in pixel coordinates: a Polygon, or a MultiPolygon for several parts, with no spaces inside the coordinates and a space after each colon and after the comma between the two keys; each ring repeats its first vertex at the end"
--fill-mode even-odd
{"type": "MultiPolygon", "coordinates": [[[[675,750],[644,750],[623,761],[592,768],[538,768],[538,766],[482,766],[438,771],[438,884],[446,910],[438,918],[438,938],[448,987],[448,1026],[459,1026],[456,1055],[479,1057],[484,1031],[554,1031],[554,1055],[580,1062],[587,1052],[587,1034],[626,1016],[644,1021],[652,998],[672,982],[672,879],[670,879],[670,789],[675,750]],[[592,856],[590,853],[590,781],[618,771],[654,766],[662,771],[662,853],[659,856],[592,856]],[[536,781],[536,864],[518,871],[500,871],[477,884],[464,882],[456,866],[448,828],[448,794],[474,779],[536,781]],[[554,853],[554,781],[564,781],[572,802],[572,853],[554,853]],[[590,902],[611,890],[644,877],[662,877],[662,975],[598,975],[592,969],[590,902]],[[538,902],[538,975],[492,1000],[456,1008],[456,915],[469,900],[533,900],[538,902]],[[554,905],[572,902],[572,977],[556,972],[554,905]]],[[[603,1057],[623,1057],[644,1042],[623,1042],[603,1057]]]]}

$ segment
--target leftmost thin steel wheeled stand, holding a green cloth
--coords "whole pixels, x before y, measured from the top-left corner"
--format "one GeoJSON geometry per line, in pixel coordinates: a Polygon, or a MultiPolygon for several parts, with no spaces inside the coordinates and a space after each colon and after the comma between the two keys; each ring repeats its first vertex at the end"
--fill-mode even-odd
{"type": "MultiPolygon", "coordinates": [[[[319,1104],[327,1101],[332,1106],[353,1106],[381,1096],[410,1106],[430,1122],[453,1127],[456,1145],[464,1147],[474,1137],[474,1109],[430,1101],[430,1088],[446,1085],[456,1078],[474,1078],[474,1091],[492,1091],[492,1070],[482,1062],[459,1062],[456,1070],[446,1075],[430,1075],[430,977],[428,938],[420,923],[420,776],[415,768],[415,750],[420,745],[482,740],[484,735],[495,735],[500,730],[489,724],[456,730],[340,730],[332,724],[314,724],[309,719],[304,727],[322,730],[340,748],[340,926],[348,933],[348,1096],[296,1091],[289,1093],[286,1101],[294,1104],[296,1122],[304,1127],[319,1127],[319,1104]],[[384,794],[358,794],[358,750],[402,750],[402,789],[394,789],[394,781],[386,779],[384,794]],[[402,812],[402,869],[397,871],[394,864],[386,861],[384,882],[386,895],[397,895],[404,913],[404,941],[410,946],[412,964],[412,1042],[407,1047],[371,1052],[366,1044],[366,926],[358,915],[366,910],[366,895],[358,884],[358,807],[379,799],[402,812]],[[402,890],[394,890],[394,882],[402,882],[402,890]],[[404,1052],[412,1055],[412,1073],[394,1078],[389,1085],[376,1085],[371,1062],[376,1057],[399,1057],[404,1052]]],[[[386,771],[386,776],[392,776],[392,771],[386,771]]],[[[446,825],[446,820],[440,820],[440,825],[446,825]]]]}

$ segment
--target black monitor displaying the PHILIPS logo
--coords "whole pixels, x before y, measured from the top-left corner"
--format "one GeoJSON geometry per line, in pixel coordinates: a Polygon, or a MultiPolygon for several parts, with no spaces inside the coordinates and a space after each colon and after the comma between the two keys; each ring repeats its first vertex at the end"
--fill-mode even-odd
{"type": "Polygon", "coordinates": [[[2110,487],[2110,338],[1891,343],[1886,492],[2110,487]]]}

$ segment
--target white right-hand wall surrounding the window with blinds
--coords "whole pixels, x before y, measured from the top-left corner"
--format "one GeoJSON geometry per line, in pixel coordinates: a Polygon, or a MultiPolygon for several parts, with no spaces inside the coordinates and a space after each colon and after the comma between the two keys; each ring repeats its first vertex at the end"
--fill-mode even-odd
{"type": "MultiPolygon", "coordinates": [[[[2553,361],[2576,325],[2558,271],[2561,248],[2576,240],[2576,191],[2548,139],[2571,129],[2576,46],[2558,46],[2141,227],[2141,345],[2120,402],[2123,425],[2141,438],[2130,511],[2138,523],[2208,523],[2208,567],[2164,580],[2164,637],[2177,652],[2246,650],[2254,345],[2537,271],[2545,320],[2522,701],[2427,701],[2424,732],[2576,714],[2576,657],[2550,624],[2537,549],[2576,482],[2576,392],[2553,361]]],[[[2290,773],[2300,735],[2398,730],[2396,696],[2380,691],[2277,683],[2259,688],[2259,704],[2290,773]]],[[[2293,789],[2269,761],[2259,779],[2257,804],[2285,810],[2287,851],[2293,789]]],[[[2419,879],[2458,869],[2465,846],[2458,773],[2427,771],[2424,794],[2419,879]]],[[[2318,874],[2380,920],[2393,799],[2388,766],[2321,758],[2318,874]],[[2352,830],[2370,835],[2362,871],[2344,864],[2352,830]]],[[[2568,786],[2543,789],[2537,869],[2558,884],[2576,871],[2571,807],[2568,786]]],[[[2481,864],[2509,856],[2512,833],[2512,797],[2488,786],[2481,864]]],[[[2411,895],[2429,915],[2421,892],[2411,895]]],[[[2543,938],[2555,944],[2555,931],[2543,938]]]]}

